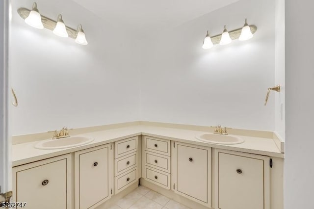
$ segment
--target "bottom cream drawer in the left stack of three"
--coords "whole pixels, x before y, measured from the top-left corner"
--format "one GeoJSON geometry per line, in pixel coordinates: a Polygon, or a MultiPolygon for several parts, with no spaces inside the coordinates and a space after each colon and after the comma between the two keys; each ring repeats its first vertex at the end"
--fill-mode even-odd
{"type": "Polygon", "coordinates": [[[115,178],[115,189],[116,194],[131,185],[132,183],[136,182],[137,180],[137,168],[134,170],[131,170],[130,172],[126,172],[121,174],[120,176],[117,176],[115,178]]]}

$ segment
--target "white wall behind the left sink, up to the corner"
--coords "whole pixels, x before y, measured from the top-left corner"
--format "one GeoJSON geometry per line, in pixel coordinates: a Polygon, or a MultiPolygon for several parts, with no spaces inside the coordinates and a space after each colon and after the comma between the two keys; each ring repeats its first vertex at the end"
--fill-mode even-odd
{"type": "Polygon", "coordinates": [[[51,30],[25,24],[12,3],[12,86],[19,106],[12,113],[13,135],[139,120],[137,43],[119,28],[71,0],[37,0],[41,14],[66,25],[82,24],[81,46],[51,30]]]}

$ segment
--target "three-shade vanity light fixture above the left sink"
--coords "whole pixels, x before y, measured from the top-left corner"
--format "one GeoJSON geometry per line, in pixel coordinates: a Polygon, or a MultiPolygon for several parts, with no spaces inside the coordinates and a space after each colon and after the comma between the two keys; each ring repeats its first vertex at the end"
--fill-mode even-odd
{"type": "Polygon", "coordinates": [[[81,45],[87,45],[85,33],[82,26],[79,25],[78,30],[66,26],[62,20],[62,16],[58,15],[57,22],[39,14],[36,2],[33,3],[32,10],[27,8],[19,8],[18,13],[25,22],[33,27],[47,28],[53,31],[54,34],[61,37],[70,37],[75,39],[75,42],[81,45]],[[36,23],[36,24],[34,24],[36,23]]]}

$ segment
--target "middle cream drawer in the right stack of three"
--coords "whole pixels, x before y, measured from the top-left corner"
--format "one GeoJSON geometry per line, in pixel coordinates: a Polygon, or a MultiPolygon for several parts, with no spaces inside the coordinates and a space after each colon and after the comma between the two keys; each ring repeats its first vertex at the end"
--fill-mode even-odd
{"type": "Polygon", "coordinates": [[[170,157],[145,151],[145,165],[170,173],[170,157]]]}

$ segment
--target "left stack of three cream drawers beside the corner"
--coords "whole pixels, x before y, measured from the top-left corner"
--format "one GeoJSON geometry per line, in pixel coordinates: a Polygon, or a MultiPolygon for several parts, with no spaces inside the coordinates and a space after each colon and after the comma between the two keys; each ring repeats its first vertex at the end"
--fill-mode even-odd
{"type": "Polygon", "coordinates": [[[138,136],[116,141],[114,145],[115,194],[138,178],[138,136]]]}

